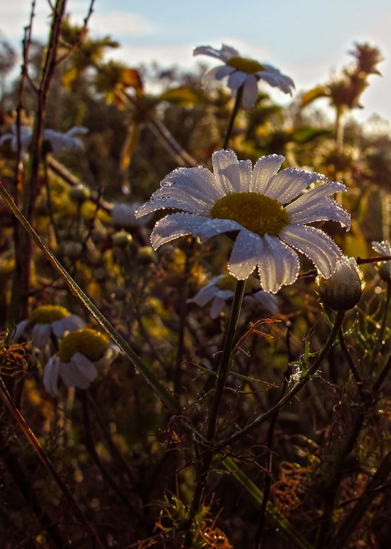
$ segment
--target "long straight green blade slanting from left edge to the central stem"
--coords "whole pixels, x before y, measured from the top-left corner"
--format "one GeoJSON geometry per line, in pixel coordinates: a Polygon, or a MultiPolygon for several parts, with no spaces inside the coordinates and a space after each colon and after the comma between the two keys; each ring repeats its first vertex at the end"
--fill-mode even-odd
{"type": "Polygon", "coordinates": [[[12,212],[21,222],[24,229],[30,235],[32,240],[36,242],[44,255],[46,255],[46,258],[49,259],[55,270],[57,270],[59,275],[61,275],[61,277],[66,281],[72,294],[79,298],[81,303],[83,303],[88,311],[90,311],[90,313],[92,314],[92,316],[94,316],[100,326],[103,327],[103,329],[109,334],[113,342],[118,345],[122,353],[124,353],[124,355],[131,361],[131,363],[133,363],[133,366],[144,377],[146,382],[150,385],[152,390],[154,390],[157,396],[159,396],[162,403],[167,407],[167,409],[169,409],[171,413],[180,414],[182,409],[174,396],[172,396],[172,394],[166,389],[166,387],[164,387],[164,385],[160,383],[159,379],[157,379],[154,373],[148,368],[148,366],[146,366],[146,364],[141,360],[137,353],[135,353],[133,348],[131,348],[131,346],[124,340],[120,333],[118,333],[118,331],[116,331],[116,329],[111,326],[109,320],[107,320],[107,318],[103,316],[103,314],[94,305],[94,303],[92,303],[90,298],[83,292],[83,290],[81,290],[81,288],[79,288],[79,285],[77,285],[75,280],[70,277],[62,264],[60,264],[59,261],[54,257],[53,253],[51,253],[49,248],[46,247],[40,236],[36,233],[36,231],[34,231],[33,227],[31,227],[25,216],[23,216],[20,209],[18,209],[18,207],[12,200],[10,194],[8,194],[7,190],[5,190],[5,187],[3,186],[3,183],[1,183],[1,181],[0,195],[8,204],[10,209],[12,209],[12,212]]]}

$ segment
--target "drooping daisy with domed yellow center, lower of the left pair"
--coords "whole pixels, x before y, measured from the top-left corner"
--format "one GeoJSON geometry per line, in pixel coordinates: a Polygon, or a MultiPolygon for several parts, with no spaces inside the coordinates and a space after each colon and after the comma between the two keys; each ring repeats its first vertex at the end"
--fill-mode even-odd
{"type": "Polygon", "coordinates": [[[118,356],[118,347],[107,335],[85,328],[68,333],[59,350],[46,363],[44,386],[53,396],[59,396],[59,377],[68,387],[87,389],[98,375],[118,356]]]}

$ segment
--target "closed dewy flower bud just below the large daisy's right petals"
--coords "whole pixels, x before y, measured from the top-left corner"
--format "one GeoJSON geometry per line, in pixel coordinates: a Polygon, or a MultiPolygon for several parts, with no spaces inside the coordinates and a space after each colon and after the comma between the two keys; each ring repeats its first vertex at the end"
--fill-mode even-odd
{"type": "Polygon", "coordinates": [[[334,311],[352,309],[364,292],[364,273],[354,257],[342,257],[331,277],[316,277],[316,286],[323,303],[334,311]]]}

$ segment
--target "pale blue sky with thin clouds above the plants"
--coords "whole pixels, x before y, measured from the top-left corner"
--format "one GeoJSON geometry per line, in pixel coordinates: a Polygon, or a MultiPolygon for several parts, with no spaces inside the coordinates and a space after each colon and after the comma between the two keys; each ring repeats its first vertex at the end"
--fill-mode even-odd
{"type": "MultiPolygon", "coordinates": [[[[46,0],[36,0],[34,36],[44,40],[46,0]]],[[[0,6],[0,30],[18,44],[29,16],[30,0],[0,6]]],[[[81,22],[88,0],[68,0],[72,20],[81,22]]],[[[269,62],[291,76],[297,90],[308,89],[349,62],[354,42],[381,49],[383,77],[371,77],[362,96],[360,120],[377,113],[391,121],[390,0],[96,0],[90,29],[118,40],[115,52],[129,65],[158,61],[163,66],[195,66],[192,48],[226,42],[242,55],[269,62]]],[[[203,62],[208,58],[198,58],[203,62]]],[[[275,99],[286,101],[280,92],[275,99]]]]}

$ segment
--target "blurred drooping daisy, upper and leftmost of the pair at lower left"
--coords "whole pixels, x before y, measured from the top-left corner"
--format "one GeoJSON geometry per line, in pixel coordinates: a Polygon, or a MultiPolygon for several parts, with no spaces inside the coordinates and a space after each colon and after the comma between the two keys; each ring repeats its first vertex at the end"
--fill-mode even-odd
{"type": "Polygon", "coordinates": [[[12,339],[15,342],[31,339],[33,346],[44,350],[51,335],[64,337],[85,327],[84,320],[77,314],[71,314],[68,309],[60,305],[41,305],[31,312],[28,320],[16,324],[12,339]]]}

